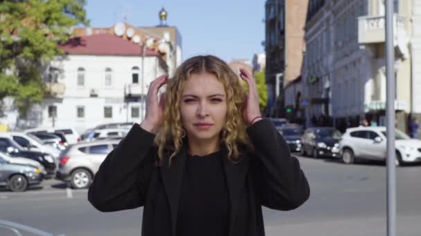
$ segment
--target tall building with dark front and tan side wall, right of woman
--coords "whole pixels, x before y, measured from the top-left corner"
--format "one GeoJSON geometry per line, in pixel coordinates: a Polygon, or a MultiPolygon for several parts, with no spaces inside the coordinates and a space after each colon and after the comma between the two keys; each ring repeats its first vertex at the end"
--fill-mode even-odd
{"type": "Polygon", "coordinates": [[[265,3],[268,116],[285,117],[284,88],[301,75],[307,3],[308,0],[265,3]]]}

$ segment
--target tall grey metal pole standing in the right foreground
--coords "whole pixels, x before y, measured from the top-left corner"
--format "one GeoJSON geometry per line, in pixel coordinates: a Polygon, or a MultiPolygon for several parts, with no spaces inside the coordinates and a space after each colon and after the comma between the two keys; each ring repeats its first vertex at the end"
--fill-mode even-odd
{"type": "Polygon", "coordinates": [[[387,235],[396,235],[395,48],[393,0],[386,0],[387,235]]]}

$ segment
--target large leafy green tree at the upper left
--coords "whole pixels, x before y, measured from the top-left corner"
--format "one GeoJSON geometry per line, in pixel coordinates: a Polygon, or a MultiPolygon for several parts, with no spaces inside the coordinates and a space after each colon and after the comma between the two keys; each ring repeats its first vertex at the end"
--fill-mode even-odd
{"type": "Polygon", "coordinates": [[[87,26],[86,0],[0,1],[0,101],[15,99],[21,117],[44,98],[42,68],[63,52],[71,27],[87,26]]]}

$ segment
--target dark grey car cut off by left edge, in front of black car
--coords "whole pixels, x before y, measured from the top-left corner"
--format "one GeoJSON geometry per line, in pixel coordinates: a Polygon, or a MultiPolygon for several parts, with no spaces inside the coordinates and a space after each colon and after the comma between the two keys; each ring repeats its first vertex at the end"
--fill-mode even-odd
{"type": "Polygon", "coordinates": [[[34,166],[12,164],[0,157],[0,186],[13,192],[23,192],[28,186],[40,184],[44,175],[34,166]]]}

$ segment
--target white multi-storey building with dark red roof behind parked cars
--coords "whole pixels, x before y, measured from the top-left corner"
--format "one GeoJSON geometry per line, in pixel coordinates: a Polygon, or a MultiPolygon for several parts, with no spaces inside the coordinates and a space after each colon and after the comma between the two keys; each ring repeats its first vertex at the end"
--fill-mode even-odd
{"type": "Polygon", "coordinates": [[[47,96],[35,106],[35,125],[82,132],[108,122],[142,121],[149,84],[168,67],[155,50],[111,34],[75,37],[51,62],[47,96]]]}

